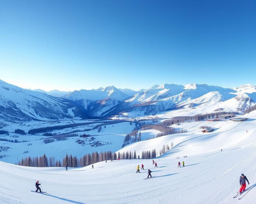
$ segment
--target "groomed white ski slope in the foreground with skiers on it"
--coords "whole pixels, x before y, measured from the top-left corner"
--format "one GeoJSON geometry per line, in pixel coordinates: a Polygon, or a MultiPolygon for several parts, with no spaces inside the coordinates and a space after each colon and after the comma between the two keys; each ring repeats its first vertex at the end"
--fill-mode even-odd
{"type": "MultiPolygon", "coordinates": [[[[256,112],[245,116],[255,118],[256,112]]],[[[87,166],[69,171],[0,162],[0,203],[256,203],[256,120],[222,122],[209,124],[215,128],[213,133],[188,131],[167,136],[167,143],[176,145],[154,159],[155,168],[151,159],[99,162],[94,169],[87,166]],[[185,167],[177,168],[182,161],[185,167]],[[145,170],[136,173],[141,164],[145,170]],[[147,169],[153,178],[145,179],[147,169]],[[250,191],[238,200],[233,197],[241,173],[247,176],[250,191]],[[31,192],[37,180],[47,193],[31,192]]],[[[192,123],[186,125],[187,129],[196,128],[192,123]]],[[[133,143],[120,152],[151,150],[161,146],[164,138],[133,143]]]]}

